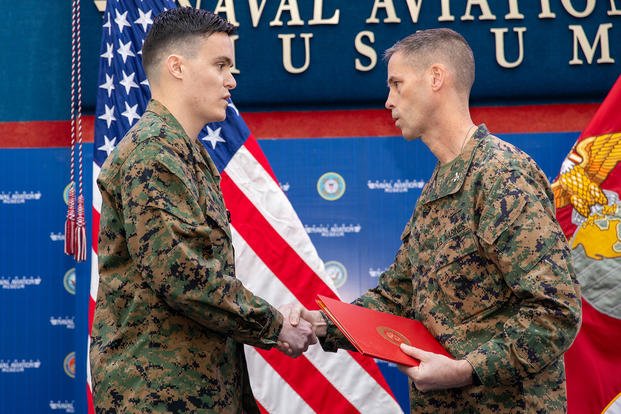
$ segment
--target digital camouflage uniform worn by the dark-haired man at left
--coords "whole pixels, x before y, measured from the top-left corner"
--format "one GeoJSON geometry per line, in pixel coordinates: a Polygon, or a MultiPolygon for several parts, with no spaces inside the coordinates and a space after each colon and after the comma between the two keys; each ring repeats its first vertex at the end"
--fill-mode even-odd
{"type": "Polygon", "coordinates": [[[235,278],[208,153],[151,101],[97,184],[97,412],[255,412],[242,343],[272,347],[282,315],[235,278]]]}

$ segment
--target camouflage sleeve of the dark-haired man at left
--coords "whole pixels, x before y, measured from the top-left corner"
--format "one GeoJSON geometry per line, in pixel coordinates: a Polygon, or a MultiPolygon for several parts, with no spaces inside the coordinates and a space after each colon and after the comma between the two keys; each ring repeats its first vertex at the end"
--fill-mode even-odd
{"type": "Polygon", "coordinates": [[[121,194],[129,252],[144,283],[209,330],[273,346],[282,315],[234,277],[227,265],[233,263],[231,241],[216,220],[205,219],[184,161],[149,143],[134,154],[125,163],[121,194]]]}

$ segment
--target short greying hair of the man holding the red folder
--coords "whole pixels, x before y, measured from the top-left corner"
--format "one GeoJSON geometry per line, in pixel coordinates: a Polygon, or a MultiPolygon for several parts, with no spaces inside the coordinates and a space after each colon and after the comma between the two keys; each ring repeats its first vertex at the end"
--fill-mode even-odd
{"type": "Polygon", "coordinates": [[[413,33],[395,43],[384,53],[389,61],[402,53],[416,67],[444,63],[456,74],[456,88],[470,94],[474,83],[474,55],[462,35],[451,29],[427,29],[413,33]]]}

